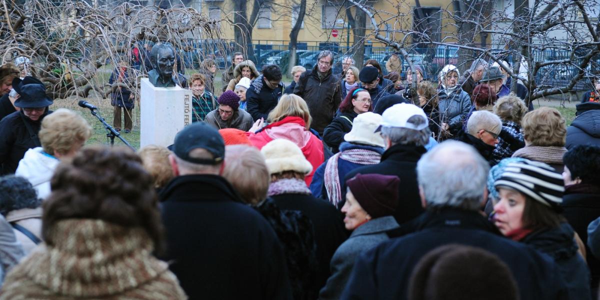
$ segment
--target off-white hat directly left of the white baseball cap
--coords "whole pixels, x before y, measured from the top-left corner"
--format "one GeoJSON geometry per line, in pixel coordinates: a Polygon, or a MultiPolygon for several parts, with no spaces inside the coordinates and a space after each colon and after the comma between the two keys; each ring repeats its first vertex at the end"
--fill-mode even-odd
{"type": "Polygon", "coordinates": [[[352,130],[344,135],[344,140],[349,143],[385,147],[383,137],[380,133],[375,132],[381,121],[382,117],[377,113],[361,113],[352,121],[352,130]]]}

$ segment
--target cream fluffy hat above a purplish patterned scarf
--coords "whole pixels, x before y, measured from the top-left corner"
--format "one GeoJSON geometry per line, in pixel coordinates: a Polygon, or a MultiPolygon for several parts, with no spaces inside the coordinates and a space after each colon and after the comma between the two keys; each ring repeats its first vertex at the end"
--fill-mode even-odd
{"type": "Polygon", "coordinates": [[[306,160],[302,150],[295,143],[286,139],[275,139],[267,143],[261,150],[266,159],[269,174],[294,171],[308,174],[313,166],[306,160]]]}

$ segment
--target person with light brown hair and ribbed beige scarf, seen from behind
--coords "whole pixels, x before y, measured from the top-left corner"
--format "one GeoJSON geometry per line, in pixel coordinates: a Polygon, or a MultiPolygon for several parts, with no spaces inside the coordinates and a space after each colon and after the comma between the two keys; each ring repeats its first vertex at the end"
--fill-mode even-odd
{"type": "Polygon", "coordinates": [[[523,117],[521,127],[525,147],[515,151],[512,157],[541,161],[562,173],[566,126],[560,112],[552,107],[540,107],[523,117]]]}

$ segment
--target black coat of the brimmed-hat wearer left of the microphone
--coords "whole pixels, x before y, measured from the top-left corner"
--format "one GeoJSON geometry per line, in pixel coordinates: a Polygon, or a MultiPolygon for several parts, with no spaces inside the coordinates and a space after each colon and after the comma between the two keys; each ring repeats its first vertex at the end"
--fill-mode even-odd
{"type": "Polygon", "coordinates": [[[41,115],[38,121],[31,121],[23,114],[23,110],[20,110],[0,121],[0,175],[14,173],[25,152],[41,146],[37,134],[40,132],[41,121],[49,113],[52,112],[46,109],[46,113],[41,115]],[[31,133],[27,125],[31,128],[31,133]]]}

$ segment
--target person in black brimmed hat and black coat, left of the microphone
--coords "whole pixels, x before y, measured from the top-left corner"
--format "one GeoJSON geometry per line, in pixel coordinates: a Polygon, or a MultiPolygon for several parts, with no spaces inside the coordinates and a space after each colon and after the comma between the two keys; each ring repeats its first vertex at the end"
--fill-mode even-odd
{"type": "Polygon", "coordinates": [[[13,88],[20,95],[14,102],[20,110],[0,121],[0,175],[14,173],[25,152],[41,146],[38,139],[41,121],[50,113],[48,107],[53,103],[46,95],[46,86],[33,77],[13,79],[13,88]]]}

